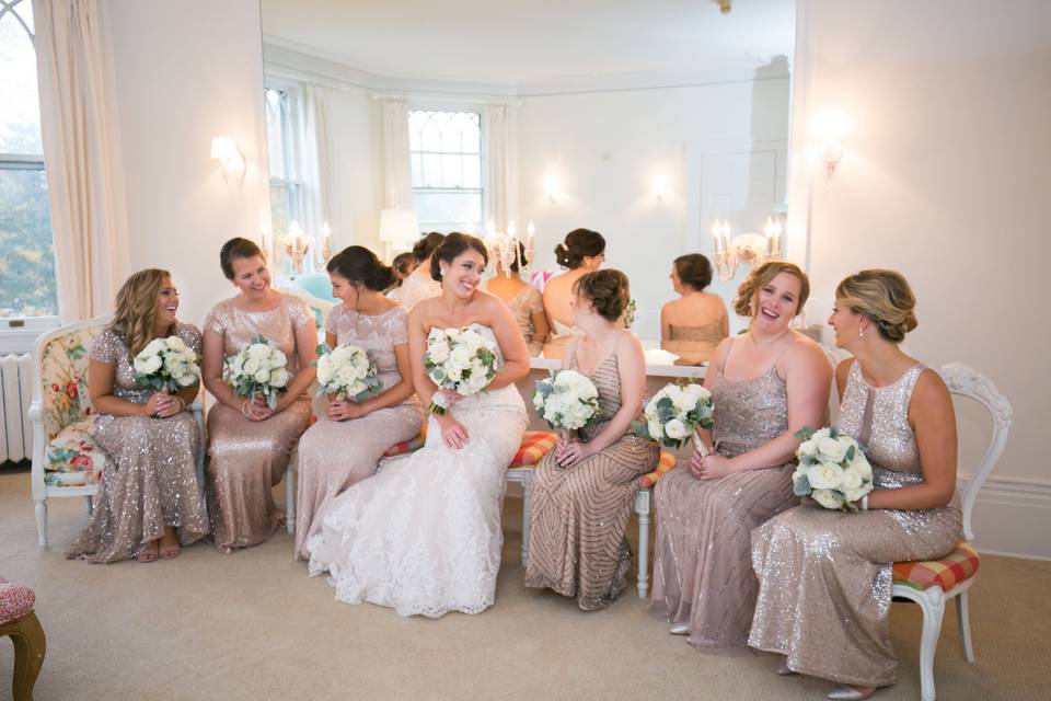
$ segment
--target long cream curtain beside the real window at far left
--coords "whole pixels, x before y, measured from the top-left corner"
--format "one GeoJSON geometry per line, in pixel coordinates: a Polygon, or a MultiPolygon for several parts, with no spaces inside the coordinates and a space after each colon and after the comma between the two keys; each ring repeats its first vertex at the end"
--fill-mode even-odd
{"type": "Polygon", "coordinates": [[[127,245],[114,216],[99,0],[33,0],[44,164],[63,323],[113,307],[127,245]]]}

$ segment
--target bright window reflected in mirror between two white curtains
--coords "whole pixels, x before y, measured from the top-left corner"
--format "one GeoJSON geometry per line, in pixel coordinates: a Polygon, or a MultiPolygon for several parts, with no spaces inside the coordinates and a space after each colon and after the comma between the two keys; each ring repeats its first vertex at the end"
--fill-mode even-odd
{"type": "Polygon", "coordinates": [[[482,115],[408,113],[413,209],[421,231],[482,230],[482,115]]]}

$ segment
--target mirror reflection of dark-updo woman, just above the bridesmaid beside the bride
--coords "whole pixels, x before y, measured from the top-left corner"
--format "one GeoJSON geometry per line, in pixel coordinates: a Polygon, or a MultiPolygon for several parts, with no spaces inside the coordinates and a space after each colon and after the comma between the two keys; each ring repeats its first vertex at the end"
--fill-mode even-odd
{"type": "Polygon", "coordinates": [[[566,234],[565,242],[555,246],[555,260],[566,272],[544,286],[544,309],[552,325],[544,344],[545,358],[561,358],[573,338],[573,286],[605,262],[605,239],[598,231],[574,229],[566,234]]]}

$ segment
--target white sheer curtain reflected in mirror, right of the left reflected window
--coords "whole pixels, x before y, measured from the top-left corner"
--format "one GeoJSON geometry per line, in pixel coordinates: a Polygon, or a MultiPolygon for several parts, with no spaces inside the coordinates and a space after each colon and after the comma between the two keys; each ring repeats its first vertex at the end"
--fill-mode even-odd
{"type": "MultiPolygon", "coordinates": [[[[321,245],[321,230],[332,221],[332,177],[328,169],[328,91],[303,85],[289,91],[292,179],[303,184],[302,221],[307,235],[321,245]]],[[[311,261],[313,255],[310,256],[311,261]]],[[[307,263],[309,269],[313,264],[307,263]]]]}

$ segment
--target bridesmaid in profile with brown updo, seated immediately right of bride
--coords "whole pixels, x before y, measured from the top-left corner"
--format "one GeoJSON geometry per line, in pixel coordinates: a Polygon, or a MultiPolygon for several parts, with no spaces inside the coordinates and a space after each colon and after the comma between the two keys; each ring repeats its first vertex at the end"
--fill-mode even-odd
{"type": "Polygon", "coordinates": [[[587,375],[599,390],[599,421],[582,440],[559,439],[533,478],[526,586],[576,597],[585,611],[604,609],[624,588],[632,554],[624,539],[638,478],[657,466],[652,440],[631,433],[646,394],[646,361],[635,334],[620,323],[627,277],[597,271],[574,286],[580,335],[563,367],[587,375]]]}

